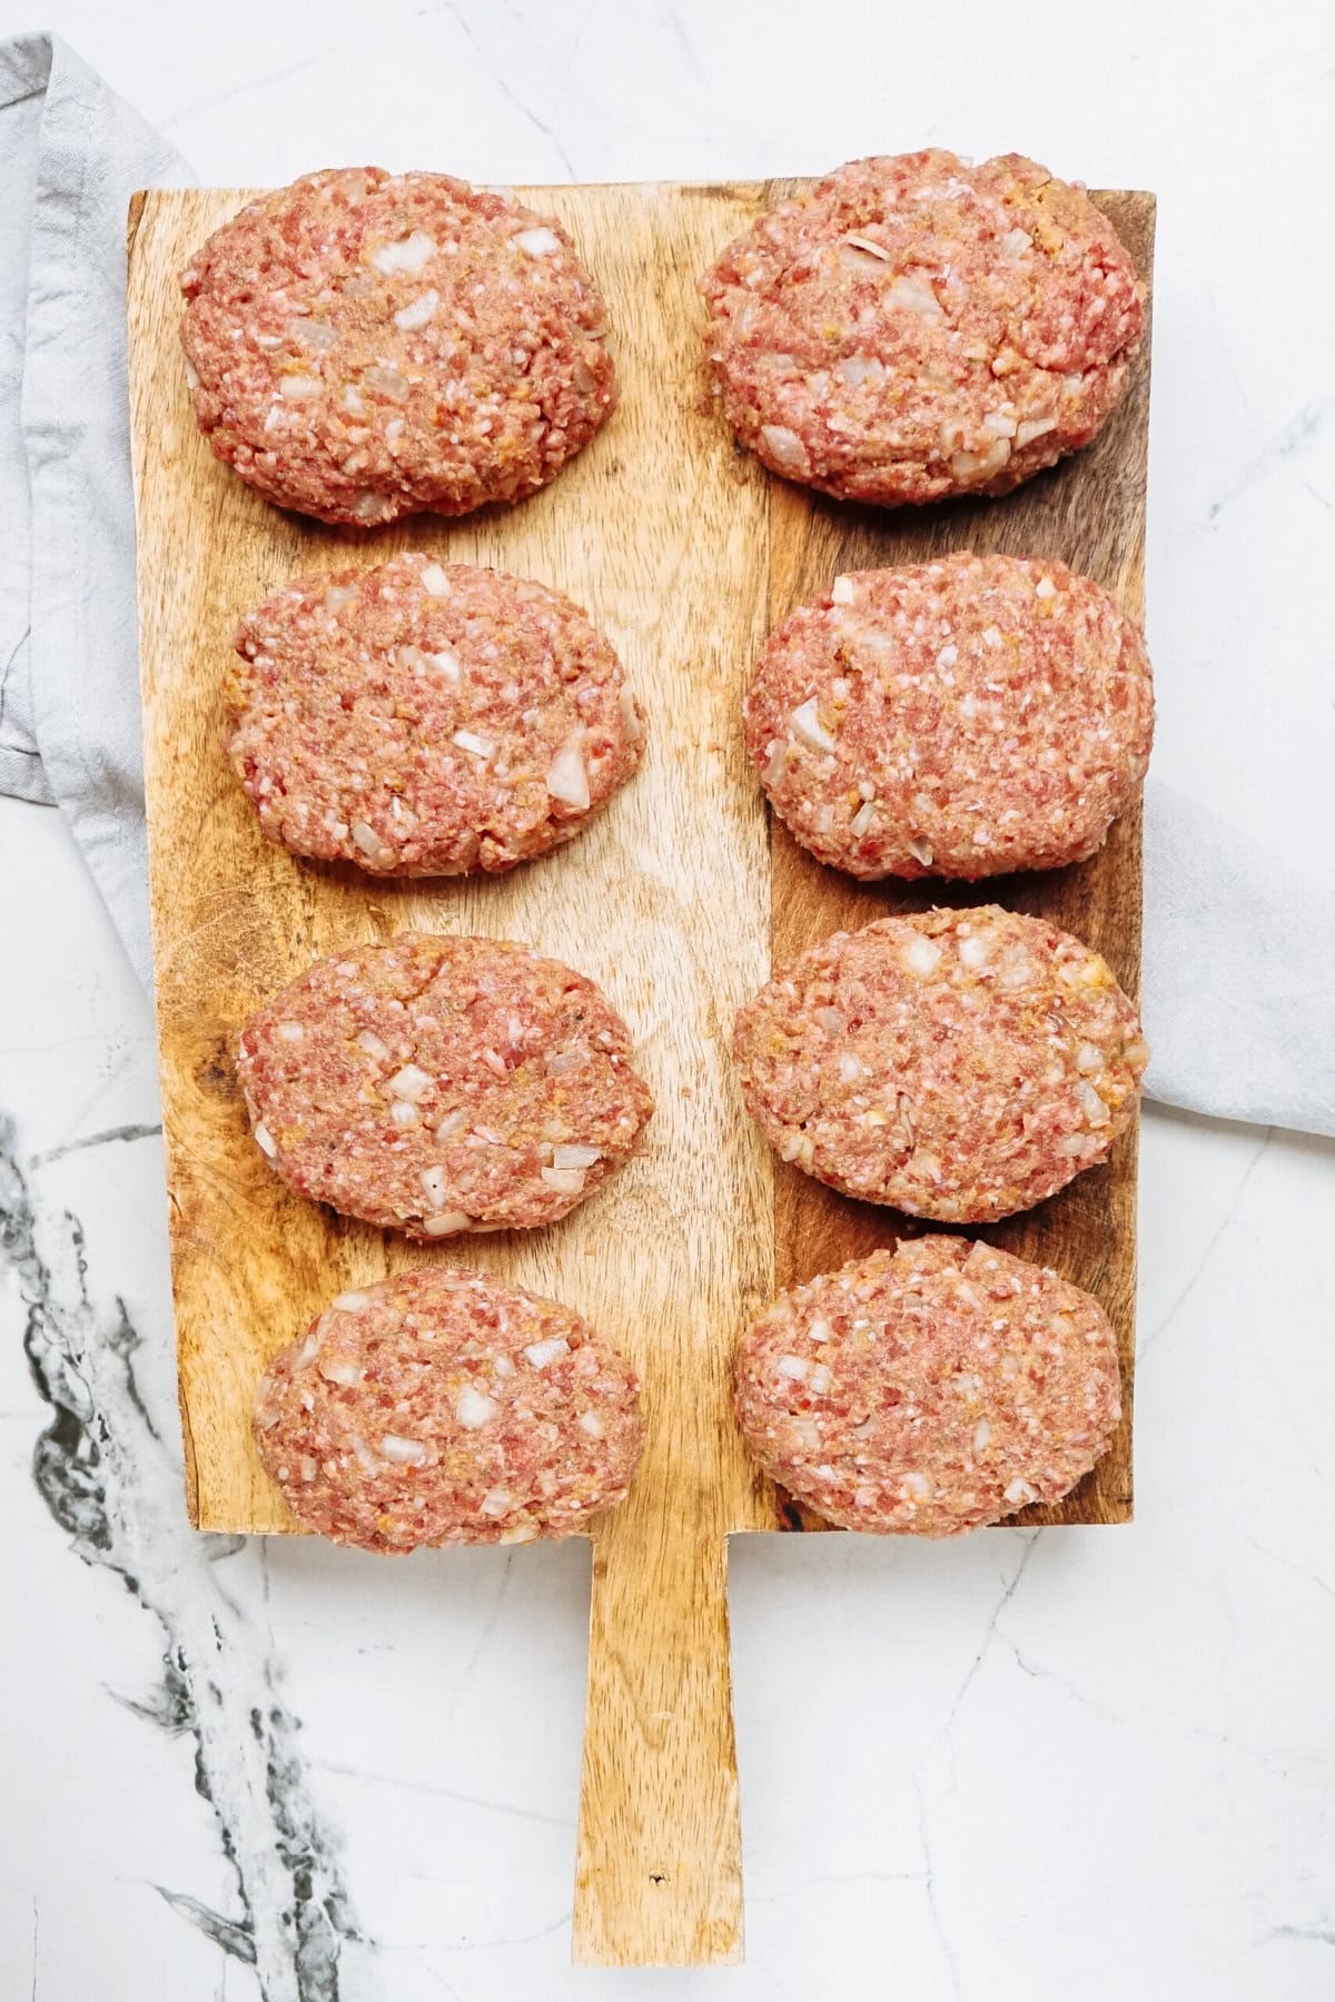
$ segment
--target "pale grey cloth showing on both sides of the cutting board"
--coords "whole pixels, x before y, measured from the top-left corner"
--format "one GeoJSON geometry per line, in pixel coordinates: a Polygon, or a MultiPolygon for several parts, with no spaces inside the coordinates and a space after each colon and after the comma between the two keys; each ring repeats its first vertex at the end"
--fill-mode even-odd
{"type": "MultiPolygon", "coordinates": [[[[0,44],[0,791],[62,807],[144,985],[124,230],[134,188],[192,178],[58,40],[0,44]]],[[[1151,1095],[1335,1133],[1327,885],[1145,805],[1151,1095]]]]}

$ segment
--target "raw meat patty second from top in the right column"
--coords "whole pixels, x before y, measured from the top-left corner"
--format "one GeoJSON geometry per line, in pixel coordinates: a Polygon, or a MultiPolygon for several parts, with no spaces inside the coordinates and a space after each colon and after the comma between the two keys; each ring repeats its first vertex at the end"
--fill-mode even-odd
{"type": "Polygon", "coordinates": [[[745,701],[779,817],[869,879],[1083,861],[1137,797],[1153,727],[1145,645],[1107,591],[969,553],[837,577],[745,701]]]}

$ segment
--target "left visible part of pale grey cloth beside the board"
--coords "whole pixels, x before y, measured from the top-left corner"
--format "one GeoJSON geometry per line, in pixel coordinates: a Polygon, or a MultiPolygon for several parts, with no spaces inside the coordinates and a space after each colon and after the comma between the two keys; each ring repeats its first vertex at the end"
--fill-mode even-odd
{"type": "Polygon", "coordinates": [[[144,985],[126,208],[192,180],[54,36],[0,42],[0,791],[60,805],[144,985]]]}

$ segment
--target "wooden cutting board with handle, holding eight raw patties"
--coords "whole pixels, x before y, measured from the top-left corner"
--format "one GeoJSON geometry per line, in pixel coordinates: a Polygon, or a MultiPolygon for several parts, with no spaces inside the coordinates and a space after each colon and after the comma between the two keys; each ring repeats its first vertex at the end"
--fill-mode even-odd
{"type": "MultiPolygon", "coordinates": [[[[592,1532],[588,1718],[574,1958],[741,1958],[741,1832],[727,1538],[817,1528],[751,1467],[729,1405],[739,1329],[799,1277],[895,1239],[895,1217],[785,1169],[729,1069],[733,1013],[841,925],[941,887],[857,887],[769,827],[739,701],[769,627],[843,569],[945,549],[1053,555],[1143,611],[1149,344],[1087,452],[1005,500],[877,513],[771,480],[711,414],[697,274],[795,182],[520,188],[558,214],[610,308],[622,400],[588,450],[516,511],[374,535],[258,500],[194,428],[176,272],[240,192],[154,192],[130,210],[130,392],[138,496],[144,763],[180,1411],[190,1520],[294,1530],[248,1431],[274,1349],[346,1285],[438,1253],[286,1193],[246,1129],[232,1043],[310,959],[404,929],[522,939],[592,975],[624,1013],[658,1111],[644,1153],[566,1223],[472,1237],[468,1263],[552,1293],[630,1353],[648,1449],[592,1532]],[[268,847],[222,751],[220,679],[238,615],[294,571],[396,549],[486,563],[570,593],[610,635],[648,713],[642,773],[586,835],[500,881],[370,883],[268,847]]],[[[1149,276],[1153,196],[1097,194],[1149,276]]],[[[1139,815],[1079,869],[949,901],[1037,911],[1099,947],[1135,993],[1139,815]]],[[[1057,1510],[1127,1522],[1135,1133],[1029,1217],[989,1231],[1089,1287],[1121,1341],[1113,1449],[1057,1510]]]]}

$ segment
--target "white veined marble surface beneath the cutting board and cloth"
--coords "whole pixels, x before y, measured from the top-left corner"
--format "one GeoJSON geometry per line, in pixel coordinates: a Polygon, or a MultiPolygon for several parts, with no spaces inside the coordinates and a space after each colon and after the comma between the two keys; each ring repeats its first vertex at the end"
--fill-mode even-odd
{"type": "MultiPolygon", "coordinates": [[[[1329,10],[1219,6],[1205,34],[1149,0],[68,0],[48,24],[228,184],[939,140],[1157,188],[1157,771],[1325,851],[1329,10]],[[1293,737],[1267,783],[1243,691],[1293,737]]],[[[0,0],[0,34],[28,26],[0,0]]],[[[747,1966],[572,1974],[584,1548],[384,1566],[188,1534],[148,1007],[58,817],[0,801],[0,855],[2,2002],[1335,1992],[1335,1145],[1147,1117],[1133,1528],[735,1546],[747,1966]],[[60,1520],[26,1327],[70,1405],[40,1453],[60,1520]]]]}

